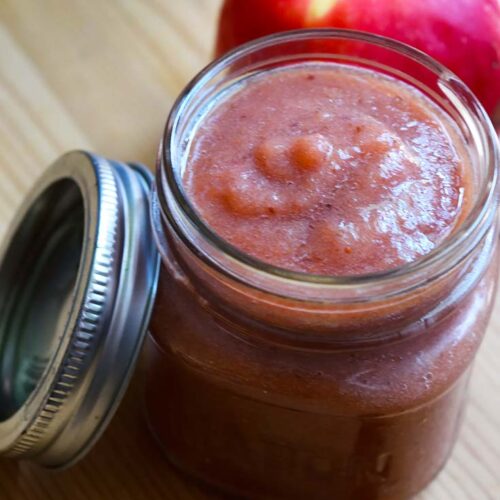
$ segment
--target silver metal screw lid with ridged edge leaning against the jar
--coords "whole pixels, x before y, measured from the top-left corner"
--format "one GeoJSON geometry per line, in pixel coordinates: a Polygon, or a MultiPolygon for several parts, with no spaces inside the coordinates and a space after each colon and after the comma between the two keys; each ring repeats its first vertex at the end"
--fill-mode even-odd
{"type": "Polygon", "coordinates": [[[0,248],[0,455],[70,465],[118,407],[158,281],[151,183],[71,152],[24,201],[0,248]]]}

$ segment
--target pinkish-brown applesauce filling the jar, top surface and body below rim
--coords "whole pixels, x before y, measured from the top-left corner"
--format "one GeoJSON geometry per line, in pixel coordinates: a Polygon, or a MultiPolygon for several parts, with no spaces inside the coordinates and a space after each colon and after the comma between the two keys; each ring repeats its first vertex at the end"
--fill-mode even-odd
{"type": "MultiPolygon", "coordinates": [[[[345,276],[439,246],[469,211],[470,169],[418,91],[302,64],[226,91],[195,128],[183,181],[239,250],[345,276]]],[[[406,499],[432,479],[491,311],[493,234],[423,289],[352,304],[261,293],[166,236],[147,401],[174,463],[248,498],[406,499]]]]}

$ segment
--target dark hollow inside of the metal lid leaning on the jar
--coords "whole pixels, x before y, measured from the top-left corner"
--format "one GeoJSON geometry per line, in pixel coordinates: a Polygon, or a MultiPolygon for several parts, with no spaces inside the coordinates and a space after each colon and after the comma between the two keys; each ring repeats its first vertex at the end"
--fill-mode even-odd
{"type": "Polygon", "coordinates": [[[57,352],[78,277],[84,222],[79,186],[59,180],[30,207],[4,257],[0,422],[26,403],[57,352]]]}

